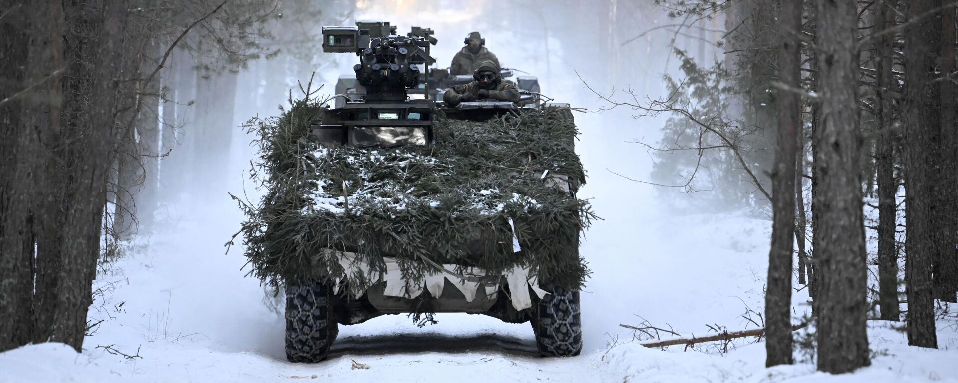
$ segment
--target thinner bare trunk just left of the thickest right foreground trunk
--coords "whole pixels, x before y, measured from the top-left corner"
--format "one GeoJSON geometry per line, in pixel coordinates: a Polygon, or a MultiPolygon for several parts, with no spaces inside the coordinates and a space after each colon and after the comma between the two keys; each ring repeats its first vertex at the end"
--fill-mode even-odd
{"type": "MultiPolygon", "coordinates": [[[[782,3],[779,79],[787,87],[800,86],[802,57],[799,53],[802,2],[782,3]]],[[[791,258],[795,237],[795,143],[802,126],[802,100],[792,91],[777,92],[778,141],[772,172],[772,244],[768,254],[768,287],[765,290],[767,340],[765,366],[792,364],[791,349],[791,258]]]]}

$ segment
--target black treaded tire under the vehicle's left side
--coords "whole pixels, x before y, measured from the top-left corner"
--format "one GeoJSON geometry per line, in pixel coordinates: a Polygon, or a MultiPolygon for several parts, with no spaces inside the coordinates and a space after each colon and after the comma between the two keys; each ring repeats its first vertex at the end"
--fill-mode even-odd
{"type": "Polygon", "coordinates": [[[330,305],[331,288],[323,282],[286,284],[286,359],[316,363],[326,359],[339,333],[330,305]]]}

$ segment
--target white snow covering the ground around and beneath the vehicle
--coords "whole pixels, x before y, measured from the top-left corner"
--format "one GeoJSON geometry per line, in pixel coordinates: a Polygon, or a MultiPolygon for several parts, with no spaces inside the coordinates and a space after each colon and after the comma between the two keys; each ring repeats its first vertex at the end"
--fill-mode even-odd
{"type": "Polygon", "coordinates": [[[86,339],[84,353],[59,344],[2,353],[0,382],[958,381],[958,331],[947,322],[939,326],[942,349],[908,347],[903,333],[873,322],[873,366],[841,376],[814,372],[801,352],[796,358],[802,363],[765,369],[762,343],[739,342],[717,354],[628,342],[630,333],[618,324],[637,324],[633,313],[656,326],[669,323],[683,334],[701,335],[706,323],[747,327],[740,317],[744,305],[762,307],[766,221],[654,210],[645,213],[654,225],[627,235],[601,231],[619,223],[616,214],[605,214],[583,244],[595,273],[583,294],[582,356],[536,356],[528,324],[441,314],[438,325],[418,328],[393,315],[340,327],[329,360],[293,364],[285,360],[282,316],[269,308],[259,283],[244,277],[241,252],[223,254],[222,244],[235,231],[224,222],[239,222],[239,213],[228,205],[191,212],[175,229],[150,237],[148,249],[132,249],[101,276],[97,286],[109,288],[91,317],[105,321],[86,339]],[[101,346],[139,357],[127,359],[101,346]],[[354,368],[362,365],[368,369],[354,368]]]}

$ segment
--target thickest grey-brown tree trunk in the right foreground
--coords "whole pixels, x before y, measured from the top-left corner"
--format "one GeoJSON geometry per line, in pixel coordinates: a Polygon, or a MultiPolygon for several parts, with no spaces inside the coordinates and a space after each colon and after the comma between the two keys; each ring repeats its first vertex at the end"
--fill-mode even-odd
{"type": "Polygon", "coordinates": [[[815,172],[821,210],[815,258],[820,267],[818,370],[852,372],[868,366],[865,332],[866,264],[858,131],[857,16],[855,2],[818,0],[816,51],[821,85],[821,126],[815,172]]]}

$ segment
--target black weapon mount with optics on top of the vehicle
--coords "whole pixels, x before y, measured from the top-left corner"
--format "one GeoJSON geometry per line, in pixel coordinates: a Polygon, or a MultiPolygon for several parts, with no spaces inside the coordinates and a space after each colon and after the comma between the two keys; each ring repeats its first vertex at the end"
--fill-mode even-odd
{"type": "Polygon", "coordinates": [[[323,27],[323,52],[354,53],[356,81],[366,87],[365,101],[405,101],[406,91],[426,78],[432,30],[413,27],[405,36],[388,22],[358,22],[355,27],[323,27]],[[422,66],[422,68],[421,68],[422,66]]]}

